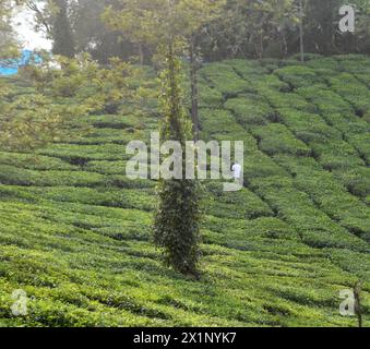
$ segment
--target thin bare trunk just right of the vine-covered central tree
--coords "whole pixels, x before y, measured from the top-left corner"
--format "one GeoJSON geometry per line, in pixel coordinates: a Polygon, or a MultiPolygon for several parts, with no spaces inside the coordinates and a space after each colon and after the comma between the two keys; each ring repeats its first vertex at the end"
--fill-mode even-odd
{"type": "Polygon", "coordinates": [[[191,81],[191,120],[193,122],[194,141],[199,140],[200,120],[199,120],[199,92],[198,92],[198,61],[195,53],[194,38],[190,44],[190,81],[191,81]]]}

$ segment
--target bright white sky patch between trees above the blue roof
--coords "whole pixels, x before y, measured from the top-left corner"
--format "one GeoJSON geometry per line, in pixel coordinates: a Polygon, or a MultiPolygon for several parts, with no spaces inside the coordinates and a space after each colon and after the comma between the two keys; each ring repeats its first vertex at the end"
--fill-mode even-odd
{"type": "Polygon", "coordinates": [[[36,33],[34,31],[33,15],[29,10],[24,8],[15,9],[16,11],[13,26],[20,38],[21,45],[26,49],[51,49],[50,40],[47,40],[44,33],[36,33]]]}

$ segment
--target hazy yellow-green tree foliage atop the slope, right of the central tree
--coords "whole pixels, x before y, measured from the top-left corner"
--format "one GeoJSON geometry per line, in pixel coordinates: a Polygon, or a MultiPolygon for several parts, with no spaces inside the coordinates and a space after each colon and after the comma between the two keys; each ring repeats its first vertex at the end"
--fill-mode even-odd
{"type": "Polygon", "coordinates": [[[293,0],[227,0],[218,21],[208,28],[207,59],[284,57],[288,29],[297,24],[293,0]]]}

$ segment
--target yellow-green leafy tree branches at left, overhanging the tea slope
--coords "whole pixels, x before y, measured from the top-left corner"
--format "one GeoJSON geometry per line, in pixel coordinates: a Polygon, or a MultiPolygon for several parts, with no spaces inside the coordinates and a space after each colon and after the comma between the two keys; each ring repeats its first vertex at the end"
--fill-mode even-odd
{"type": "Polygon", "coordinates": [[[76,139],[88,131],[82,117],[118,112],[123,99],[122,112],[143,110],[141,95],[148,95],[145,85],[152,82],[131,64],[111,59],[102,68],[87,53],[76,59],[53,58],[52,64],[49,60],[46,55],[41,65],[28,65],[20,72],[28,94],[17,94],[16,81],[4,82],[15,88],[0,91],[1,149],[29,151],[76,139]]]}

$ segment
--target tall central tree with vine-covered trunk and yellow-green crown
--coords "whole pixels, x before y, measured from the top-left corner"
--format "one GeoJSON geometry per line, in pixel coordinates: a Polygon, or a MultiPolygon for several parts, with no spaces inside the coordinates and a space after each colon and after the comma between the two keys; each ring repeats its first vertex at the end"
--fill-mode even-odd
{"type": "MultiPolygon", "coordinates": [[[[186,113],[181,92],[180,59],[192,57],[192,77],[196,74],[194,34],[218,15],[224,2],[218,0],[121,0],[121,10],[109,8],[105,20],[133,41],[150,45],[163,67],[162,112],[163,137],[179,141],[184,149],[186,141],[196,137],[198,120],[191,122],[186,113]]],[[[192,81],[192,92],[196,81],[192,81]]],[[[193,108],[196,108],[196,97],[193,108]]],[[[184,152],[183,152],[184,153],[184,152]]],[[[163,248],[166,262],[176,270],[198,275],[200,195],[195,180],[182,178],[163,180],[159,184],[159,204],[154,219],[154,240],[163,248]]]]}

